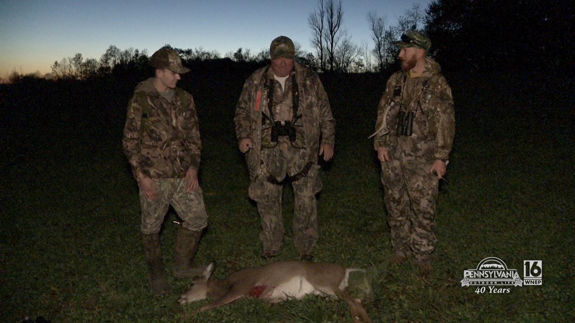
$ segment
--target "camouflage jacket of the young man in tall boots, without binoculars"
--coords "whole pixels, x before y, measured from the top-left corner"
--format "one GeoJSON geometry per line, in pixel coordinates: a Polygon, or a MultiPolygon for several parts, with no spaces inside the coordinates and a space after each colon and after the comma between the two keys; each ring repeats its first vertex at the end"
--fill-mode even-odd
{"type": "Polygon", "coordinates": [[[200,168],[200,127],[191,94],[175,88],[168,102],[154,78],[136,86],[128,105],[122,148],[137,179],[183,178],[189,167],[200,168]]]}

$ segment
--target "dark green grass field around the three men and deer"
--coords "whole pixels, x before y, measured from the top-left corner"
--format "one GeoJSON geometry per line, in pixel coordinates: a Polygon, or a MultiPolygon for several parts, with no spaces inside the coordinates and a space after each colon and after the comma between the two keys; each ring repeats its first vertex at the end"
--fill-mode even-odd
{"type": "MultiPolygon", "coordinates": [[[[204,143],[200,181],[209,229],[196,260],[223,278],[259,266],[259,217],[233,134],[243,78],[181,81],[196,98],[204,143]]],[[[384,86],[377,75],[323,77],[338,121],[335,158],[321,171],[315,261],[376,272],[366,300],[373,322],[575,321],[573,80],[536,74],[447,76],[457,131],[441,183],[434,271],[391,265],[389,228],[372,141],[384,86]],[[462,287],[463,270],[499,257],[523,277],[542,260],[542,286],[509,293],[462,287]]],[[[169,275],[174,214],[162,231],[173,293],[154,297],[139,239],[137,186],[121,153],[133,82],[46,83],[2,88],[0,322],[349,322],[347,305],[308,297],[253,299],[197,314],[181,306],[189,281],[169,275]]],[[[286,228],[293,195],[285,194],[286,228]]],[[[297,256],[287,230],[276,260],[297,256]]]]}

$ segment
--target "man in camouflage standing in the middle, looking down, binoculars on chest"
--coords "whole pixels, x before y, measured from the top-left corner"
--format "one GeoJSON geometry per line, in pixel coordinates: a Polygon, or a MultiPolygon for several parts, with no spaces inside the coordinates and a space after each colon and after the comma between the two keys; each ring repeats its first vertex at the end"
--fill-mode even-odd
{"type": "Polygon", "coordinates": [[[282,190],[291,183],[294,245],[301,259],[310,259],[318,237],[318,154],[326,161],[333,156],[335,120],[319,76],[294,56],[288,37],[271,42],[271,64],[246,80],[235,124],[250,172],[248,193],[258,203],[262,256],[273,257],[282,246],[282,190]]]}

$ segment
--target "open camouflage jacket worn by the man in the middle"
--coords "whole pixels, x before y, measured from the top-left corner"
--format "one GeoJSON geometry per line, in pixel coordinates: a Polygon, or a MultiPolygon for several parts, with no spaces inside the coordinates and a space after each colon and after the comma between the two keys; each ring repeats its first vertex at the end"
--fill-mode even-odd
{"type": "MultiPolygon", "coordinates": [[[[335,141],[335,120],[329,107],[327,93],[317,73],[309,68],[295,63],[295,72],[292,72],[286,80],[286,90],[293,82],[294,75],[298,85],[298,119],[296,125],[298,135],[302,133],[302,141],[305,142],[308,162],[317,162],[320,144],[333,145],[335,141]]],[[[250,176],[254,178],[258,174],[260,167],[262,149],[262,111],[269,116],[267,105],[269,79],[273,79],[273,72],[269,67],[262,67],[256,70],[244,83],[243,90],[236,106],[237,140],[249,138],[252,141],[252,148],[246,153],[246,161],[250,176]],[[263,76],[265,71],[267,76],[263,76]],[[263,82],[262,82],[263,81],[263,82]]],[[[281,84],[277,80],[273,81],[274,102],[277,100],[278,90],[281,84]]],[[[263,122],[266,122],[265,119],[263,122]]]]}

